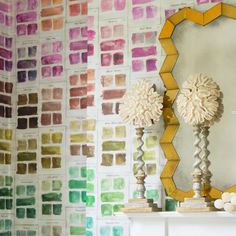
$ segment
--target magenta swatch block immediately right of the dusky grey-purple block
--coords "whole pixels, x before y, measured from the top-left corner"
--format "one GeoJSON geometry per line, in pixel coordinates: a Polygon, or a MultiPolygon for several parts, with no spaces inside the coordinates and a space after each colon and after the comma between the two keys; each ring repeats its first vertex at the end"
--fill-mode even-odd
{"type": "Polygon", "coordinates": [[[42,79],[61,78],[64,72],[64,42],[61,39],[48,38],[41,41],[42,79]]]}

